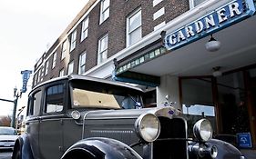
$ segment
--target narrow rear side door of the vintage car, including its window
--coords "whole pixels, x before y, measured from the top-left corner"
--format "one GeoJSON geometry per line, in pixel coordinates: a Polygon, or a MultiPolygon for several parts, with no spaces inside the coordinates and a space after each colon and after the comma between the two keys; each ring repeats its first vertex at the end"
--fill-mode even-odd
{"type": "Polygon", "coordinates": [[[39,159],[38,152],[39,145],[39,115],[42,104],[42,91],[36,90],[29,95],[27,118],[26,118],[26,134],[28,134],[29,143],[31,145],[32,152],[35,159],[39,159]]]}

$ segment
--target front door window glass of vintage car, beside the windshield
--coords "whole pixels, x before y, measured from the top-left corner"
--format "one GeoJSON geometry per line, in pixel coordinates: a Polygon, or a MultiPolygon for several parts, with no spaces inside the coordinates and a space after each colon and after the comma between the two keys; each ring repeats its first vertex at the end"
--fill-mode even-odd
{"type": "Polygon", "coordinates": [[[57,84],[46,90],[45,113],[58,113],[63,110],[64,84],[57,84]]]}

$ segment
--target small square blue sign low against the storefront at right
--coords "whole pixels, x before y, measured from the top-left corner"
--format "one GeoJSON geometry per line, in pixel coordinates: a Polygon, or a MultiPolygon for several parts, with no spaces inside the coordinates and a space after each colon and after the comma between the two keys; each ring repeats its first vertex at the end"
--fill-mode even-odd
{"type": "Polygon", "coordinates": [[[250,133],[239,133],[237,134],[238,144],[241,148],[251,148],[251,134],[250,133]]]}

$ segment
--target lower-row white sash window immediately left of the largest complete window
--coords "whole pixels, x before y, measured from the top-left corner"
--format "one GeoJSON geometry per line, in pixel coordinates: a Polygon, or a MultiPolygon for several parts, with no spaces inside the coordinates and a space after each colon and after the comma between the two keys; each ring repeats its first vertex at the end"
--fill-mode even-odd
{"type": "Polygon", "coordinates": [[[101,64],[108,59],[108,35],[98,40],[97,64],[101,64]]]}

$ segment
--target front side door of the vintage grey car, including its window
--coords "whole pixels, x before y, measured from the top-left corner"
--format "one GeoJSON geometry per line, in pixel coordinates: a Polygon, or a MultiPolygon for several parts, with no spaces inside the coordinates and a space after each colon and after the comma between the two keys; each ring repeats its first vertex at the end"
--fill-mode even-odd
{"type": "Polygon", "coordinates": [[[41,159],[60,158],[63,152],[64,85],[46,87],[43,114],[40,118],[39,152],[41,159]]]}

